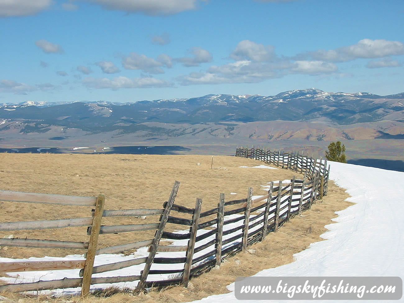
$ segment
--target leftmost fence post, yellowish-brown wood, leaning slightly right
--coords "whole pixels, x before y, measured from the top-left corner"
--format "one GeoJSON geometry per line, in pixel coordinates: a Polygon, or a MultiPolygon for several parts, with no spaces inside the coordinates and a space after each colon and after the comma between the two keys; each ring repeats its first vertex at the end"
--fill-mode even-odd
{"type": "Polygon", "coordinates": [[[99,195],[95,204],[95,212],[93,224],[91,225],[90,240],[88,242],[86,262],[84,263],[83,283],[81,287],[81,295],[87,297],[90,294],[91,275],[93,274],[93,266],[95,259],[95,250],[97,250],[98,236],[101,227],[102,213],[104,210],[105,196],[99,195]]]}

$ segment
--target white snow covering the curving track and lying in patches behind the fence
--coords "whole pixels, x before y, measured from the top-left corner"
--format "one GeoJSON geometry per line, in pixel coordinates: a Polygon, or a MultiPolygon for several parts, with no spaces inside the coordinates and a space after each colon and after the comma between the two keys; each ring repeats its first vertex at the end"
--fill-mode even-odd
{"type": "MultiPolygon", "coordinates": [[[[327,240],[312,243],[306,250],[295,254],[294,262],[276,268],[265,269],[255,276],[399,276],[403,278],[404,220],[402,219],[402,213],[404,213],[404,187],[400,186],[402,184],[400,182],[404,178],[404,173],[353,164],[328,163],[331,164],[330,179],[334,180],[337,185],[347,189],[347,193],[351,196],[347,200],[356,204],[349,206],[345,210],[336,212],[338,217],[333,219],[333,221],[337,223],[326,225],[329,231],[321,235],[322,238],[327,240]]],[[[269,166],[264,166],[255,166],[255,168],[269,168],[269,166]]],[[[226,217],[226,219],[233,218],[234,216],[239,215],[232,215],[226,217]]],[[[227,228],[234,227],[232,224],[229,225],[226,225],[228,226],[227,228]]],[[[208,230],[200,230],[201,233],[206,231],[208,230]]],[[[187,231],[177,232],[184,233],[187,231]]],[[[207,242],[211,239],[208,237],[205,240],[207,242]]],[[[186,242],[187,240],[175,240],[170,245],[186,245],[186,242]]],[[[206,251],[198,252],[196,256],[204,254],[206,251]]],[[[159,257],[167,257],[168,255],[170,257],[183,257],[184,253],[160,252],[159,257]]],[[[147,248],[138,249],[136,256],[99,255],[95,259],[95,265],[143,256],[147,256],[147,248]]],[[[65,258],[44,257],[40,258],[40,260],[71,260],[82,259],[82,257],[82,255],[71,255],[65,258]]],[[[29,260],[38,259],[29,258],[29,260]]],[[[0,261],[25,260],[0,258],[0,261]]],[[[161,265],[153,264],[152,269],[158,269],[159,266],[161,265]]],[[[170,265],[170,268],[174,268],[174,266],[181,268],[183,264],[170,265]]],[[[169,269],[168,265],[163,265],[163,267],[169,269]]],[[[133,272],[139,269],[143,269],[143,264],[106,274],[108,276],[133,275],[133,272]]],[[[9,273],[9,275],[13,278],[2,279],[8,279],[7,281],[12,283],[32,282],[33,280],[38,280],[40,277],[42,280],[61,279],[66,276],[77,277],[78,270],[27,271],[9,273]],[[18,278],[17,274],[19,275],[18,278]]],[[[101,274],[94,276],[101,276],[101,274]]],[[[164,278],[166,279],[167,275],[149,277],[150,280],[164,278]]],[[[118,286],[135,287],[136,284],[137,281],[118,284],[118,286]]],[[[99,284],[92,286],[92,288],[100,286],[107,287],[109,285],[99,284]]],[[[194,303],[240,303],[240,300],[234,296],[234,284],[230,284],[228,289],[231,291],[228,294],[209,296],[202,300],[194,301],[194,303]]],[[[65,289],[65,293],[79,291],[79,288],[65,289]]],[[[404,301],[404,299],[400,301],[404,301]]],[[[282,302],[286,303],[289,301],[283,300],[282,302]]],[[[312,302],[322,301],[316,300],[312,302]]]]}

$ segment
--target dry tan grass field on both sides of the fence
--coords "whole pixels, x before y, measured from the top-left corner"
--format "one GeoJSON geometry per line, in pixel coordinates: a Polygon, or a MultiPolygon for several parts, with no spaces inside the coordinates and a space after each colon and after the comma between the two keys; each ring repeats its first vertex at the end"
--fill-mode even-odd
{"type": "MultiPolygon", "coordinates": [[[[246,198],[247,188],[252,186],[254,195],[264,195],[266,192],[261,185],[267,182],[291,179],[293,175],[300,179],[303,177],[290,170],[240,168],[256,166],[260,162],[231,156],[214,156],[213,169],[211,156],[195,155],[0,154],[0,160],[0,189],[78,196],[97,196],[101,193],[106,196],[105,209],[161,208],[162,203],[168,199],[174,181],[178,180],[181,185],[175,204],[193,208],[196,198],[202,198],[204,211],[217,206],[221,192],[226,194],[226,200],[246,198]]],[[[322,240],[319,235],[326,230],[324,225],[336,217],[335,211],[349,206],[345,198],[347,194],[344,190],[330,182],[329,194],[322,203],[305,212],[305,217],[295,217],[280,228],[278,233],[270,233],[264,242],[252,246],[257,250],[255,255],[240,253],[223,263],[221,269],[192,279],[189,288],[174,287],[140,297],[129,294],[117,294],[105,299],[92,297],[86,302],[187,302],[227,292],[225,286],[237,276],[250,276],[261,269],[290,263],[294,253],[305,249],[310,243],[322,240]],[[240,263],[235,263],[236,260],[240,263]]],[[[2,222],[88,217],[90,209],[84,206],[0,202],[2,222]]],[[[102,224],[136,224],[158,220],[156,216],[150,217],[105,221],[107,218],[103,218],[102,224]]],[[[184,226],[174,225],[170,228],[184,229],[184,226]]],[[[86,227],[1,231],[0,237],[10,234],[15,238],[88,240],[86,227]]],[[[153,236],[154,231],[101,235],[99,247],[145,240],[153,236]]],[[[9,258],[65,256],[73,253],[80,254],[83,251],[13,247],[0,249],[0,257],[9,258]]],[[[17,298],[15,296],[12,295],[17,298]]],[[[26,297],[23,302],[38,302],[36,300],[39,299],[26,297]]],[[[62,299],[46,300],[57,302],[62,299]]],[[[82,299],[69,300],[78,302],[82,299]]]]}

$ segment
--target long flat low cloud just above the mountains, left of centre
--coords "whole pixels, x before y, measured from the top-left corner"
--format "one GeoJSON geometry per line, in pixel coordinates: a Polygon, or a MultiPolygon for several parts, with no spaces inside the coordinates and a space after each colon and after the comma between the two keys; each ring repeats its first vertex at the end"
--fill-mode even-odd
{"type": "Polygon", "coordinates": [[[118,90],[120,88],[160,88],[174,86],[173,83],[166,80],[145,77],[130,79],[127,77],[108,78],[85,78],[83,84],[88,88],[110,88],[118,90]]]}

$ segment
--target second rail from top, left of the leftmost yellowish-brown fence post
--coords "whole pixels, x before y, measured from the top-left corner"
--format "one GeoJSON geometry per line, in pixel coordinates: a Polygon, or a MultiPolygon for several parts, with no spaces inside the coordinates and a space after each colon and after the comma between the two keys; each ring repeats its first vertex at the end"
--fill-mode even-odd
{"type": "Polygon", "coordinates": [[[0,223],[0,230],[22,230],[22,229],[48,229],[86,226],[93,223],[93,218],[73,218],[40,221],[19,221],[0,223]]]}

